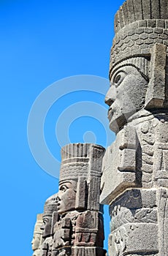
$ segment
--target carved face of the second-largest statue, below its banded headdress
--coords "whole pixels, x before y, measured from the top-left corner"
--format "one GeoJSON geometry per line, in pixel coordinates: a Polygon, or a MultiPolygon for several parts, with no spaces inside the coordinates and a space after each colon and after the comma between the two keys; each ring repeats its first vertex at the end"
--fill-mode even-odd
{"type": "Polygon", "coordinates": [[[58,192],[58,214],[75,210],[76,182],[65,181],[59,186],[58,192]]]}

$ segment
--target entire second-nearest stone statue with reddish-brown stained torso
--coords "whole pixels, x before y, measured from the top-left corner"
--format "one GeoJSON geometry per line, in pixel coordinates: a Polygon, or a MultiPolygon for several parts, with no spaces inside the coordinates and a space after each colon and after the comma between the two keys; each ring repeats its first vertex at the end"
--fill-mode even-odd
{"type": "Polygon", "coordinates": [[[104,227],[99,205],[104,148],[69,144],[61,149],[59,219],[53,227],[52,256],[103,256],[104,227]]]}

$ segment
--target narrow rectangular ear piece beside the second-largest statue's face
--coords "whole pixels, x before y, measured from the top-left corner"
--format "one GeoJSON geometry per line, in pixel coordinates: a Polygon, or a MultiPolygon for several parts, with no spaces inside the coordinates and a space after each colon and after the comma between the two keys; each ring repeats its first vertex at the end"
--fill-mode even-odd
{"type": "Polygon", "coordinates": [[[85,209],[86,205],[86,181],[85,177],[79,177],[77,181],[77,194],[75,200],[75,208],[76,209],[85,209]]]}

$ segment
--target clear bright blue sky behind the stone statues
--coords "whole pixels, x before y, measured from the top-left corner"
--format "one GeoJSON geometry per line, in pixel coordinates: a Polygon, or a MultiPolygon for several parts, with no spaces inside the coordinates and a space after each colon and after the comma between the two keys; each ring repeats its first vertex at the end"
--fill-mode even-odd
{"type": "MultiPolygon", "coordinates": [[[[69,80],[55,84],[54,94],[58,99],[52,105],[49,102],[43,130],[47,148],[58,162],[61,146],[68,140],[71,143],[95,140],[107,146],[114,139],[112,132],[109,130],[110,135],[107,132],[104,91],[108,89],[105,78],[108,78],[114,14],[122,3],[123,0],[0,1],[1,255],[32,254],[36,215],[43,211],[47,197],[58,190],[58,178],[42,170],[28,145],[28,115],[39,94],[60,79],[90,75],[91,85],[86,85],[90,90],[77,91],[76,87],[70,92],[73,78],[70,84],[69,80]],[[104,78],[104,88],[95,89],[93,75],[104,78]],[[96,111],[98,117],[94,118],[90,110],[96,111]]],[[[80,81],[83,79],[80,77],[80,81]]],[[[79,90],[83,90],[80,81],[79,90]]],[[[47,102],[46,95],[43,102],[47,102]]],[[[45,106],[43,102],[41,108],[45,106]]],[[[37,120],[41,114],[39,110],[37,120]]],[[[32,127],[37,129],[36,120],[32,127]]],[[[39,130],[36,132],[38,137],[39,130]]],[[[35,144],[41,152],[36,138],[35,144]]],[[[105,211],[107,227],[107,208],[105,211]]],[[[106,248],[107,233],[106,229],[106,248]]]]}

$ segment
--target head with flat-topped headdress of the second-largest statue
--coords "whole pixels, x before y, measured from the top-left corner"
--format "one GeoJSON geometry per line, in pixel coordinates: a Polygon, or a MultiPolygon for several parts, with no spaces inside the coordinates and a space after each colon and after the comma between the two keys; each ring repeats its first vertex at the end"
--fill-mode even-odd
{"type": "Polygon", "coordinates": [[[69,144],[61,148],[58,214],[99,208],[102,173],[102,146],[89,143],[69,144]],[[95,195],[90,192],[95,187],[95,195]]]}

